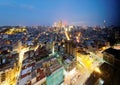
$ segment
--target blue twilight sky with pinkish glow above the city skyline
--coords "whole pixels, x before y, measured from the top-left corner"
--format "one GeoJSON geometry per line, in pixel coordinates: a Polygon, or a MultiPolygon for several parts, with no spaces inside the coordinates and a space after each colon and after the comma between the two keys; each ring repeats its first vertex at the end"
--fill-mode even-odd
{"type": "Polygon", "coordinates": [[[120,24],[120,0],[0,0],[0,25],[120,24]]]}

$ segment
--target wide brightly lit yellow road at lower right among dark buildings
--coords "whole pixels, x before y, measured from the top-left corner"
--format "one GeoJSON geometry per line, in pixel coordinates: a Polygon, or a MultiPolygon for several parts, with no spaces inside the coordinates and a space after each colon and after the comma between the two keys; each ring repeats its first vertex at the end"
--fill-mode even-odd
{"type": "Polygon", "coordinates": [[[90,68],[86,66],[85,62],[79,60],[79,62],[84,65],[78,63],[80,67],[76,66],[75,71],[72,71],[72,75],[71,72],[68,72],[65,75],[65,81],[63,85],[83,85],[91,73],[95,71],[96,68],[99,69],[98,67],[104,62],[102,56],[99,57],[94,53],[90,53],[90,56],[92,56],[93,61],[90,68]]]}

